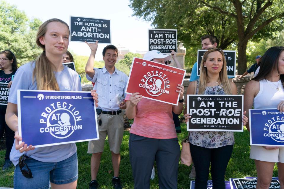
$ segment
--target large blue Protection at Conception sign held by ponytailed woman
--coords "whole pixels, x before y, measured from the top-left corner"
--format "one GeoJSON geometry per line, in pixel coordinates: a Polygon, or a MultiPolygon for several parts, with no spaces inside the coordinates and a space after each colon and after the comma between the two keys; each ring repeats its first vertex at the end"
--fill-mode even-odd
{"type": "Polygon", "coordinates": [[[99,139],[91,92],[18,90],[17,97],[19,135],[25,144],[42,147],[99,139]]]}

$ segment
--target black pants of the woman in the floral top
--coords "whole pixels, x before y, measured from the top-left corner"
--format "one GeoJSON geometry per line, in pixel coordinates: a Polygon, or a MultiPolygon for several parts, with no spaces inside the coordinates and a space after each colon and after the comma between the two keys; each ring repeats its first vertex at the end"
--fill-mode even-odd
{"type": "Polygon", "coordinates": [[[232,151],[233,145],[204,148],[190,143],[190,152],[196,172],[196,189],[207,189],[210,162],[213,188],[225,189],[225,172],[232,151]]]}

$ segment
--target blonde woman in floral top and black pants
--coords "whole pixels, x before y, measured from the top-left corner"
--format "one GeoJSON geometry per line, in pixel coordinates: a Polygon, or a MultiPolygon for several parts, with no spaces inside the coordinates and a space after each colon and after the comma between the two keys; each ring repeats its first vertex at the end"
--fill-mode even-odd
{"type": "MultiPolygon", "coordinates": [[[[208,49],[201,61],[200,80],[191,82],[186,94],[237,94],[236,85],[227,77],[226,66],[222,49],[208,49]]],[[[185,114],[186,121],[190,118],[185,114]]],[[[244,116],[243,123],[246,124],[247,120],[244,116]]],[[[191,131],[189,141],[196,170],[195,188],[206,188],[211,163],[213,187],[225,189],[225,171],[235,143],[234,133],[191,131]]]]}

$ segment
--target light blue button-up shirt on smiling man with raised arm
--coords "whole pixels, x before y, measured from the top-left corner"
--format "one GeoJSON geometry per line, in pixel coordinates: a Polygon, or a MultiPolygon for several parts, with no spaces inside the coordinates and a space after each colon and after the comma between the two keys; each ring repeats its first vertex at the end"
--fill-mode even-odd
{"type": "Polygon", "coordinates": [[[114,72],[110,74],[105,67],[94,68],[95,75],[93,78],[86,74],[89,81],[95,83],[99,95],[98,108],[104,111],[117,111],[119,108],[119,97],[124,99],[126,97],[125,88],[128,76],[115,68],[114,72]]]}

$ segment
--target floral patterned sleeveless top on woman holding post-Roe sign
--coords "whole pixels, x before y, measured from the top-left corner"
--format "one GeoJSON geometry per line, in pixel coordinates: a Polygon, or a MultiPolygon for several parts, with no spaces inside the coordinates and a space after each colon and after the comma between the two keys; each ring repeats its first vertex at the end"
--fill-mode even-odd
{"type": "MultiPolygon", "coordinates": [[[[197,80],[196,94],[198,94],[199,80],[197,80]]],[[[222,84],[206,87],[203,94],[225,94],[222,84]]],[[[189,142],[204,148],[218,148],[235,144],[234,132],[222,131],[190,131],[189,142]]]]}

